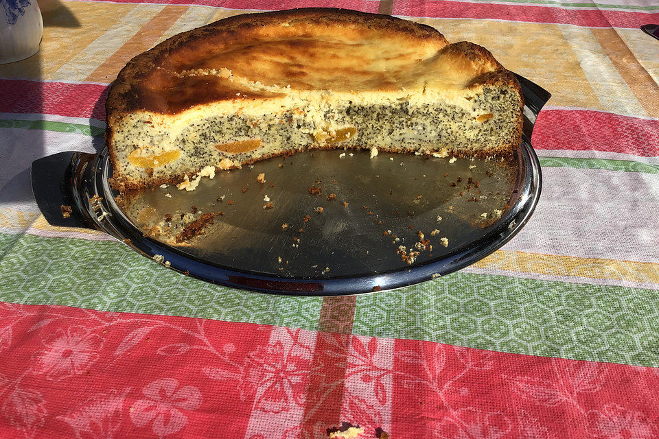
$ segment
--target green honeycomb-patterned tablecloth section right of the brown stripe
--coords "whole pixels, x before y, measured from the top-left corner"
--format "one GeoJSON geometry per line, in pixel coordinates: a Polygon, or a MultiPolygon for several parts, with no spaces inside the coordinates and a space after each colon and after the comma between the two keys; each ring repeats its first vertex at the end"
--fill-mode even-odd
{"type": "Polygon", "coordinates": [[[455,273],[357,299],[354,333],[659,366],[659,292],[455,273]]]}

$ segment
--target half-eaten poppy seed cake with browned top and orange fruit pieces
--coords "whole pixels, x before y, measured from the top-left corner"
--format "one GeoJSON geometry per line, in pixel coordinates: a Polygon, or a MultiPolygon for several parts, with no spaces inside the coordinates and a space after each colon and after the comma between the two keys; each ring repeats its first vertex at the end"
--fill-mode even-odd
{"type": "Polygon", "coordinates": [[[521,141],[522,107],[481,46],[391,16],[286,10],[130,60],[108,94],[106,144],[113,187],[140,189],[314,148],[503,155],[521,141]]]}

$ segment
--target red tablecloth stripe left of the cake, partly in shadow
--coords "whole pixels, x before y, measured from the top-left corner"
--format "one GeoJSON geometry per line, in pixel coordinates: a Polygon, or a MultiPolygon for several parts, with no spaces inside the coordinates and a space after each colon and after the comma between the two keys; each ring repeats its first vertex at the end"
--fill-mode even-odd
{"type": "Polygon", "coordinates": [[[108,86],[0,80],[0,112],[43,113],[105,120],[108,86]]]}

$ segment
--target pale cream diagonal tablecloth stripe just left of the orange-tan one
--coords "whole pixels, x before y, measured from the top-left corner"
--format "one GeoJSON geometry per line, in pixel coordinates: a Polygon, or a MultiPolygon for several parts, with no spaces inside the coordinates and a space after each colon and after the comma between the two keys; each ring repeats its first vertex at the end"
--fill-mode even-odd
{"type": "MultiPolygon", "coordinates": [[[[113,3],[94,3],[95,5],[113,3]]],[[[139,4],[135,6],[126,16],[119,17],[107,32],[93,40],[87,47],[80,51],[69,62],[64,64],[54,73],[53,79],[84,81],[101,64],[119,50],[127,40],[137,34],[139,30],[148,23],[152,17],[165,8],[165,5],[139,4]]],[[[99,14],[112,14],[112,8],[103,8],[99,14]],[[103,10],[105,9],[105,10],[103,10]]],[[[124,67],[122,66],[119,67],[124,67]]]]}

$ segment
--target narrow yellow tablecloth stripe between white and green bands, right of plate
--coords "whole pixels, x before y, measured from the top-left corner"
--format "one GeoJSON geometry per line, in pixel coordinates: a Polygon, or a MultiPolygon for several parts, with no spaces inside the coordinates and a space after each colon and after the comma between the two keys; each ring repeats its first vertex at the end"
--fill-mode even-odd
{"type": "Polygon", "coordinates": [[[497,268],[512,272],[551,274],[616,281],[659,283],[659,263],[578,258],[497,250],[474,263],[476,268],[497,268]]]}

